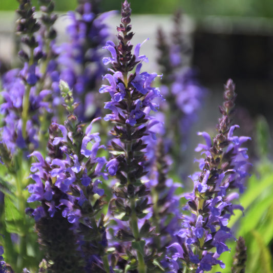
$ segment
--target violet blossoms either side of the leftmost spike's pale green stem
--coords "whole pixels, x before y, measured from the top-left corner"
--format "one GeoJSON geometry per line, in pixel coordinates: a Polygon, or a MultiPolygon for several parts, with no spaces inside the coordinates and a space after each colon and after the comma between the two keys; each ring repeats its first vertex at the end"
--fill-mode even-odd
{"type": "Polygon", "coordinates": [[[22,114],[20,113],[23,109],[23,98],[26,86],[24,80],[20,78],[19,75],[20,71],[14,69],[8,71],[3,76],[2,96],[4,98],[4,103],[1,104],[0,113],[4,115],[5,125],[1,130],[2,141],[10,150],[11,154],[14,154],[17,148],[28,148],[30,144],[33,145],[34,149],[38,147],[38,117],[44,110],[50,111],[49,103],[45,102],[44,99],[51,93],[51,91],[43,90],[36,95],[35,88],[31,88],[29,95],[29,108],[33,111],[33,115],[26,123],[27,136],[23,137],[22,114]]]}

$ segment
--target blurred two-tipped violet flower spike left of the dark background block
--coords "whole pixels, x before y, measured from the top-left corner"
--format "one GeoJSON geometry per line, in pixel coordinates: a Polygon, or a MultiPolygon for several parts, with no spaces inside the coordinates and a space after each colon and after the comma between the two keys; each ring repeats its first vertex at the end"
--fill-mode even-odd
{"type": "Polygon", "coordinates": [[[164,138],[167,151],[174,159],[173,170],[177,171],[183,167],[188,135],[206,93],[194,70],[187,66],[189,48],[181,30],[181,13],[174,16],[172,38],[158,30],[157,48],[157,61],[163,73],[160,89],[165,98],[161,111],[167,120],[164,138]]]}

